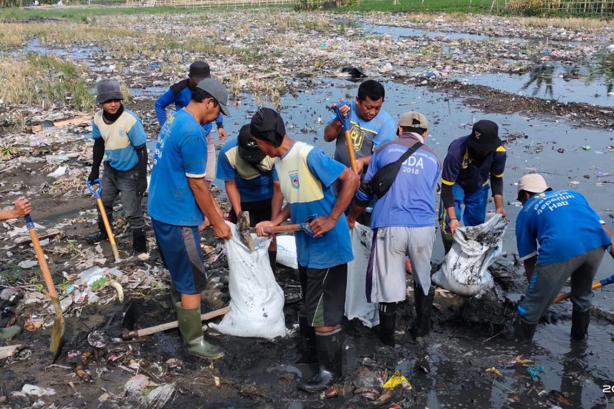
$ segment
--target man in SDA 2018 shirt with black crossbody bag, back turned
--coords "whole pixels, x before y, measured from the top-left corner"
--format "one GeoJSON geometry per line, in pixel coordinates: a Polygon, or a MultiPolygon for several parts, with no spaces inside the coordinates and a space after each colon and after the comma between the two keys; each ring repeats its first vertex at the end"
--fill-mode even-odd
{"type": "MultiPolygon", "coordinates": [[[[406,297],[405,256],[413,266],[414,308],[416,320],[411,330],[414,340],[430,331],[430,312],[435,288],[430,285],[430,257],[435,241],[435,189],[441,174],[441,161],[423,145],[428,121],[419,112],[406,112],[398,121],[400,136],[373,153],[365,181],[356,192],[348,225],[374,198],[370,182],[387,164],[397,162],[408,150],[394,182],[373,206],[371,229],[373,243],[368,262],[367,302],[377,302],[379,339],[395,346],[394,330],[397,303],[406,297]]],[[[387,170],[384,170],[387,172],[387,170]]]]}

